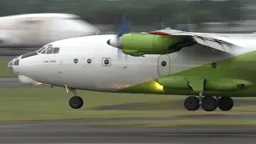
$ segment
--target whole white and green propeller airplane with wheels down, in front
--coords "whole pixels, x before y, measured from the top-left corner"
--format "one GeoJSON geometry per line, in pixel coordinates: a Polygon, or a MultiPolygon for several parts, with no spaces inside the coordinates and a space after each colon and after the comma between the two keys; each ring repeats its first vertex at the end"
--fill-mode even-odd
{"type": "Polygon", "coordinates": [[[186,110],[231,110],[231,97],[256,95],[256,35],[179,30],[68,38],[14,58],[20,82],[76,90],[188,95],[186,110]]]}

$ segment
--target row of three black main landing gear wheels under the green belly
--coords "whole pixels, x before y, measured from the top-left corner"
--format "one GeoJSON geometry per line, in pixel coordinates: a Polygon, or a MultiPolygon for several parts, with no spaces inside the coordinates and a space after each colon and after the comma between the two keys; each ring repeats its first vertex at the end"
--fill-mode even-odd
{"type": "Polygon", "coordinates": [[[202,97],[202,94],[199,95],[199,98],[190,96],[185,99],[184,106],[186,110],[198,110],[201,106],[203,110],[214,111],[217,107],[220,110],[227,111],[231,110],[234,106],[233,99],[230,97],[214,98],[211,96],[202,97]]]}

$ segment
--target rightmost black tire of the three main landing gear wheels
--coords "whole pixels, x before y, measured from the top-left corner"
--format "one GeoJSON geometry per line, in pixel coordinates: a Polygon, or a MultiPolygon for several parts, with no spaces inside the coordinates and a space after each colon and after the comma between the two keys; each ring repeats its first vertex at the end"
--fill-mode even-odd
{"type": "Polygon", "coordinates": [[[234,106],[234,101],[230,97],[222,97],[218,99],[218,108],[223,111],[231,110],[234,106]]]}

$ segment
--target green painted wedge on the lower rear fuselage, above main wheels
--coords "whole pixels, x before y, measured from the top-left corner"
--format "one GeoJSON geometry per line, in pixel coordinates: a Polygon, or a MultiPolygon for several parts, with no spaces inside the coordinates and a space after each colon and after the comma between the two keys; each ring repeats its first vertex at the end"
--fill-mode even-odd
{"type": "MultiPolygon", "coordinates": [[[[171,74],[168,77],[162,77],[137,86],[131,86],[120,90],[120,92],[198,95],[198,92],[189,89],[185,82],[190,78],[206,78],[206,90],[204,90],[204,95],[254,97],[256,96],[256,86],[254,85],[256,83],[256,77],[254,76],[254,74],[256,74],[255,56],[256,51],[241,54],[233,58],[215,62],[217,65],[215,68],[212,67],[212,63],[209,63],[190,70],[184,70],[177,74],[171,74]],[[164,90],[156,88],[156,82],[162,82],[163,85],[166,85],[164,90]],[[241,84],[244,84],[244,86],[241,84]]],[[[195,84],[195,86],[196,85],[197,84],[195,84]]],[[[198,89],[200,88],[196,86],[195,90],[198,89]]]]}

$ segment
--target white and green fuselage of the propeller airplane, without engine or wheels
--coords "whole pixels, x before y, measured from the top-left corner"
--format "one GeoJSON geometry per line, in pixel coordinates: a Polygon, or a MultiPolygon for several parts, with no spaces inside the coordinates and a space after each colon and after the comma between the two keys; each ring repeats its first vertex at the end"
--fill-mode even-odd
{"type": "Polygon", "coordinates": [[[254,34],[227,35],[226,41],[234,44],[232,50],[197,42],[170,54],[144,54],[144,57],[120,53],[117,47],[107,43],[111,38],[116,35],[51,42],[26,58],[22,55],[14,59],[9,66],[23,83],[45,83],[70,90],[256,96],[254,34]],[[59,48],[59,51],[42,54],[48,47],[59,48]],[[14,61],[18,61],[16,66],[14,61]]]}

